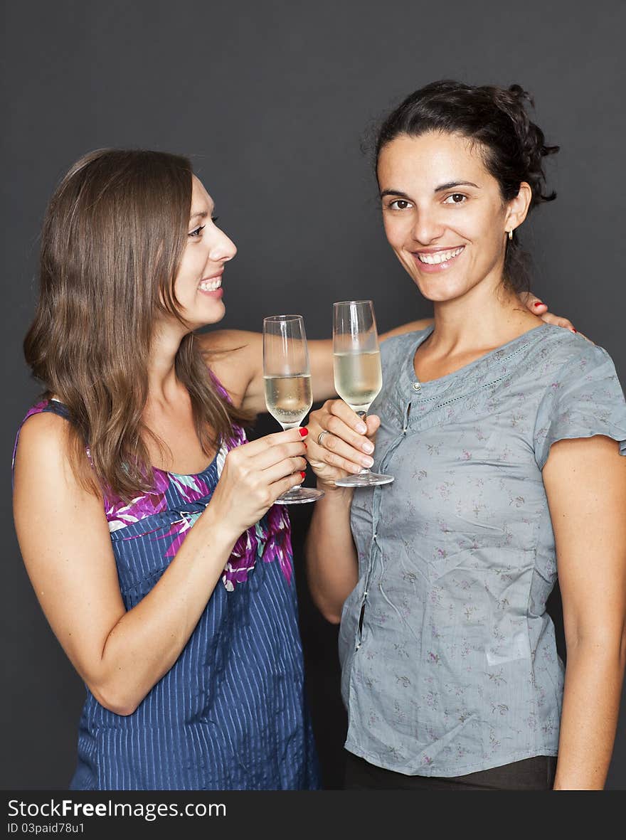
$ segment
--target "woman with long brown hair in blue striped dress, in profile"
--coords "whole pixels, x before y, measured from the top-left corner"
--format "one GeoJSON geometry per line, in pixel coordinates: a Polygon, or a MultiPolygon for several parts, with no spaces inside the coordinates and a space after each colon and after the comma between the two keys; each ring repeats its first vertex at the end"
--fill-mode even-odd
{"type": "MultiPolygon", "coordinates": [[[[236,251],[213,209],[188,160],[100,150],[45,219],[24,344],[45,393],[16,441],[14,516],[87,685],[75,789],[318,786],[273,504],[302,482],[306,430],[247,443],[260,336],[194,332],[224,316],[236,251]]],[[[330,343],[310,354],[330,396],[330,343]]]]}

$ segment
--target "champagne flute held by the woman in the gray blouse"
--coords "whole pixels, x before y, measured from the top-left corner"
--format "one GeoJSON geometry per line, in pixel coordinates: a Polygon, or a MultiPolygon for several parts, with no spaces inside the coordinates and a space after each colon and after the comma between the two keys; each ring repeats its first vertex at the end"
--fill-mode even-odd
{"type": "MultiPolygon", "coordinates": [[[[382,387],[381,351],[371,301],[333,304],[334,388],[362,420],[382,387]]],[[[373,487],[389,484],[392,475],[365,468],[334,483],[339,487],[373,487]]]]}

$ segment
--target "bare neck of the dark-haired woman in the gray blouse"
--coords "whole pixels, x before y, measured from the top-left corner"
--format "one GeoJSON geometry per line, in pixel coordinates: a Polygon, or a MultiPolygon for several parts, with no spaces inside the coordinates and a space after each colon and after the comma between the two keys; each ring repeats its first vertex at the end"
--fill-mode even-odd
{"type": "Polygon", "coordinates": [[[429,345],[441,354],[495,348],[540,323],[515,292],[502,284],[501,276],[486,277],[463,297],[434,302],[429,345]]]}

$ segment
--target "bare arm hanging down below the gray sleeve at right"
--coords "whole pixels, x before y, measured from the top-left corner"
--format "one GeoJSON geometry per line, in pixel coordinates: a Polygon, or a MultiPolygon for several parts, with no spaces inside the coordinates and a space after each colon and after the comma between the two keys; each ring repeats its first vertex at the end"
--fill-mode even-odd
{"type": "Polygon", "coordinates": [[[561,440],[543,477],[567,647],[555,790],[602,790],[626,659],[626,458],[603,436],[561,440]]]}

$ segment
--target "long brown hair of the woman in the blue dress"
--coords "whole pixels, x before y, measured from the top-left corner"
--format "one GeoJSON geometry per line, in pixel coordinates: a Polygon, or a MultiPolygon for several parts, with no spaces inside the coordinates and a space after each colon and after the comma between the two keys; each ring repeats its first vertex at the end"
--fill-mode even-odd
{"type": "MultiPolygon", "coordinates": [[[[68,453],[92,491],[129,501],[154,476],[145,436],[155,318],[181,318],[174,281],[187,241],[192,165],[147,150],[103,149],[71,167],[41,236],[39,302],[24,356],[70,414],[68,453]],[[88,446],[90,462],[85,457],[88,446]]],[[[176,353],[205,454],[250,416],[218,394],[193,333],[176,353]]]]}

